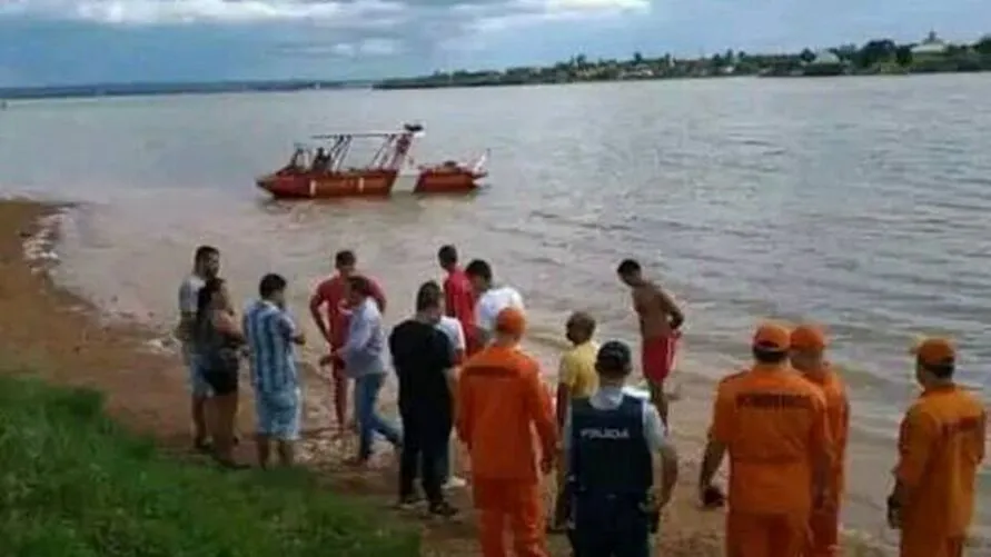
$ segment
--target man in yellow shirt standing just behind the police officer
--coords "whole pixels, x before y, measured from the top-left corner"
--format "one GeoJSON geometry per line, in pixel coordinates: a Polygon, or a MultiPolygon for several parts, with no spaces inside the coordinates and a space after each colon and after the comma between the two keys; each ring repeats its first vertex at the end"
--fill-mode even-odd
{"type": "MultiPolygon", "coordinates": [[[[565,337],[572,349],[561,357],[557,371],[557,426],[564,428],[565,418],[569,414],[572,400],[588,398],[598,387],[598,374],[595,371],[595,355],[598,346],[592,340],[595,335],[595,319],[584,312],[575,311],[565,324],[565,337]]],[[[568,497],[564,493],[565,467],[557,468],[557,494],[554,503],[554,516],[551,518],[551,530],[564,529],[567,518],[568,497]]]]}

